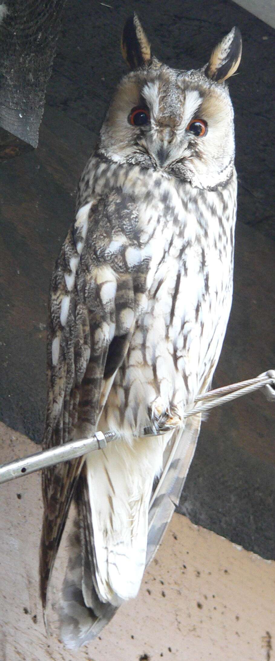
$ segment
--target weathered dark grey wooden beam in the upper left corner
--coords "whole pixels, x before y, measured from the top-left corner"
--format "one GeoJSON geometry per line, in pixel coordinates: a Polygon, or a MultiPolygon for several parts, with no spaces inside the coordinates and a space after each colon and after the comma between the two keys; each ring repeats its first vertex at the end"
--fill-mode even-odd
{"type": "MultiPolygon", "coordinates": [[[[0,126],[33,147],[38,143],[64,3],[7,0],[0,5],[0,126]]],[[[11,137],[8,155],[17,153],[11,137]]]]}

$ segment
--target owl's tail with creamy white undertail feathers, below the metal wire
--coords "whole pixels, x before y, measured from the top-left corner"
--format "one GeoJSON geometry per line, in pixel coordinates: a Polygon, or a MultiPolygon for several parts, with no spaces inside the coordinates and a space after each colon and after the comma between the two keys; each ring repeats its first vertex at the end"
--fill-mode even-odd
{"type": "Polygon", "coordinates": [[[56,586],[55,576],[64,576],[67,561],[65,580],[52,600],[52,620],[58,613],[59,635],[67,647],[78,648],[97,637],[118,605],[138,593],[143,570],[155,555],[178,504],[199,431],[200,416],[196,416],[184,430],[175,430],[172,438],[165,434],[137,439],[132,447],[112,442],[103,455],[100,450],[89,456],[77,488],[78,514],[75,517],[73,504],[65,529],[67,541],[61,545],[62,568],[59,566],[52,579],[56,586]],[[160,472],[152,491],[153,479],[160,472]],[[139,516],[131,518],[135,508],[139,516]]]}

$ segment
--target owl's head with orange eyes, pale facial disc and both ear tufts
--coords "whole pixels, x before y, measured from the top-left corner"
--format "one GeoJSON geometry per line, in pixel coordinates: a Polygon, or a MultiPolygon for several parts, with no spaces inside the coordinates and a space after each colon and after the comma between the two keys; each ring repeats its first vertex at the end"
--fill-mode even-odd
{"type": "Polygon", "coordinates": [[[171,69],[151,55],[135,14],[122,33],[130,66],[110,104],[99,149],[112,161],[139,164],[206,188],[225,182],[235,155],[233,108],[225,81],[241,59],[233,28],[202,69],[171,69]]]}

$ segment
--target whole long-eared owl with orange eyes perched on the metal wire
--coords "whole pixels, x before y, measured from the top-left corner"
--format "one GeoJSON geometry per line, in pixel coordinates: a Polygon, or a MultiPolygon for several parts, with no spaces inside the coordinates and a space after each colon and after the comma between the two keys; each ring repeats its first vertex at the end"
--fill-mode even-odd
{"type": "Polygon", "coordinates": [[[151,55],[134,15],[122,54],[130,73],[81,176],[50,286],[44,447],[116,432],[42,477],[42,602],[54,603],[70,647],[138,593],[184,485],[200,430],[186,412],[210,387],[232,299],[225,81],[241,59],[239,30],[184,71],[151,55]]]}

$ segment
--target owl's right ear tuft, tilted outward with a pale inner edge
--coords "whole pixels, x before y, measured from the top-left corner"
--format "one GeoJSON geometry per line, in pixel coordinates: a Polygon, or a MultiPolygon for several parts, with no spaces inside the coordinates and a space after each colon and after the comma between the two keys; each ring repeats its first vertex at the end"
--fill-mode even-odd
{"type": "Polygon", "coordinates": [[[241,32],[232,28],[211,54],[205,75],[217,83],[222,83],[233,75],[241,61],[241,32]]]}

